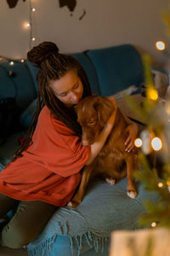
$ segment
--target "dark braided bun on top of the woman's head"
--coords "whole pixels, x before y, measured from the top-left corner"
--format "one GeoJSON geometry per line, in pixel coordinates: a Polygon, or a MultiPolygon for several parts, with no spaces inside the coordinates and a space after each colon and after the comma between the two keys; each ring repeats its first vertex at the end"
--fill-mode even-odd
{"type": "Polygon", "coordinates": [[[51,54],[58,55],[59,48],[52,42],[43,42],[28,51],[27,59],[31,63],[36,64],[37,67],[41,67],[42,61],[51,54]]]}

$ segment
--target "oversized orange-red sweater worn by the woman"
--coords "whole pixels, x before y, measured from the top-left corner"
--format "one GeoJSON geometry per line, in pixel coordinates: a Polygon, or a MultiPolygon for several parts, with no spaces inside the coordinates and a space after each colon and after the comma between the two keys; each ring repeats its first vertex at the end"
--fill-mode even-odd
{"type": "Polygon", "coordinates": [[[90,147],[82,146],[80,138],[54,119],[46,106],[32,141],[22,157],[0,172],[0,193],[20,201],[45,201],[64,207],[80,183],[90,147]]]}

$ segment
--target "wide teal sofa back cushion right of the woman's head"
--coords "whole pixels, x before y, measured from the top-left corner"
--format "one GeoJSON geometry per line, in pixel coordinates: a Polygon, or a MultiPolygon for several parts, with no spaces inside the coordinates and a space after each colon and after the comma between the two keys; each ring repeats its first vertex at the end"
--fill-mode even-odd
{"type": "Polygon", "coordinates": [[[105,49],[91,49],[87,55],[96,69],[102,96],[144,82],[142,61],[138,51],[129,44],[105,49]]]}

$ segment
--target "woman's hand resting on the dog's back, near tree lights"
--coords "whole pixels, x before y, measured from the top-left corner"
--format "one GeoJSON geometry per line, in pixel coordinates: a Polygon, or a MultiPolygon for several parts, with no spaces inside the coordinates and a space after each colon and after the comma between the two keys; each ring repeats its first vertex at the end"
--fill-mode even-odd
{"type": "Polygon", "coordinates": [[[134,147],[134,140],[138,134],[138,126],[134,123],[130,124],[127,126],[126,131],[128,133],[128,136],[125,141],[125,146],[126,146],[125,151],[129,153],[134,147]]]}

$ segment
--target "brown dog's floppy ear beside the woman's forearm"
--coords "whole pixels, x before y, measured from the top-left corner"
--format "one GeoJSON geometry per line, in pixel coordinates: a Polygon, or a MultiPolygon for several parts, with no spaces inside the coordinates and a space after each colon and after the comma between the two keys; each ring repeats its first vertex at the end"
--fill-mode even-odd
{"type": "Polygon", "coordinates": [[[107,98],[99,96],[97,102],[94,102],[94,109],[98,113],[99,125],[104,127],[111,113],[116,112],[116,102],[113,97],[107,98]]]}

